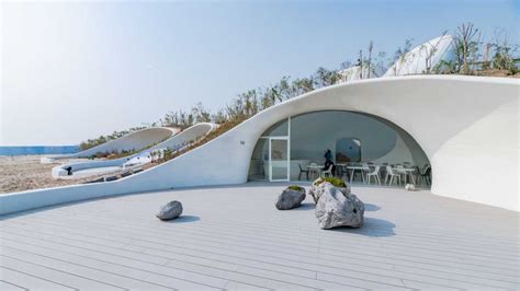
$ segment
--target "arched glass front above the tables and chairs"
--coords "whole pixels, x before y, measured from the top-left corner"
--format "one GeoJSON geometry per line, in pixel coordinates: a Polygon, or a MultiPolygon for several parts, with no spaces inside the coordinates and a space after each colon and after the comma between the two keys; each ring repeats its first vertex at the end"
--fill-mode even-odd
{"type": "MultiPolygon", "coordinates": [[[[331,151],[330,159],[338,165],[338,175],[347,174],[349,164],[370,163],[381,167],[406,167],[408,170],[404,173],[416,182],[430,164],[417,141],[389,120],[353,110],[312,110],[281,119],[261,133],[251,153],[248,179],[274,181],[271,173],[280,171],[287,172],[282,181],[301,179],[309,170],[319,172],[319,165],[325,163],[324,153],[328,150],[331,151]],[[272,141],[280,139],[289,141],[286,154],[281,154],[286,156],[286,161],[282,162],[272,159],[273,154],[280,155],[280,149],[274,150],[272,141]],[[338,148],[342,146],[347,148],[338,148]]],[[[383,170],[381,175],[384,174],[383,170]]]]}

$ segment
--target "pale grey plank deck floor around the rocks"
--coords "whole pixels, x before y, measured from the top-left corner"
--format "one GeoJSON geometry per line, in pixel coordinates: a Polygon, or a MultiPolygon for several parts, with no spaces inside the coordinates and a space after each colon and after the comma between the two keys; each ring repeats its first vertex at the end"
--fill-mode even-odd
{"type": "Polygon", "coordinates": [[[0,221],[0,290],[519,289],[519,214],[428,191],[354,187],[360,230],[317,228],[281,184],[122,196],[0,221]],[[181,200],[181,219],[155,218],[181,200]]]}

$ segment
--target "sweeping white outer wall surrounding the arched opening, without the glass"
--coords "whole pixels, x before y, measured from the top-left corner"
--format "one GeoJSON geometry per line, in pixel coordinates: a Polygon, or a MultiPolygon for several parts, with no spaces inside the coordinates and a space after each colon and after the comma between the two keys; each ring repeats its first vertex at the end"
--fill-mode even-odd
{"type": "Polygon", "coordinates": [[[366,113],[403,128],[432,164],[432,193],[518,211],[519,89],[519,80],[455,75],[329,86],[263,110],[211,142],[137,175],[1,196],[1,212],[144,190],[245,183],[262,132],[289,116],[326,109],[366,113]]]}

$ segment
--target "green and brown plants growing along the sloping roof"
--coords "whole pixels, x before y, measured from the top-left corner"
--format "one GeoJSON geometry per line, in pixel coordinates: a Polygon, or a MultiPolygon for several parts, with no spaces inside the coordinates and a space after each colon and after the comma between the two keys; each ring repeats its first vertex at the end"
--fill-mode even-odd
{"type": "MultiPolygon", "coordinates": [[[[446,34],[444,32],[443,34],[446,34]]],[[[509,42],[509,34],[502,31],[496,31],[493,37],[485,40],[481,31],[472,23],[464,23],[457,26],[452,35],[456,45],[455,61],[444,61],[438,66],[429,68],[423,73],[434,74],[472,74],[472,75],[494,75],[494,77],[519,77],[517,63],[520,59],[515,55],[518,51],[518,45],[509,42]]],[[[385,72],[394,62],[404,59],[404,56],[412,48],[412,39],[406,39],[404,45],[398,47],[392,55],[385,51],[374,53],[374,43],[371,40],[366,51],[360,50],[357,61],[343,61],[339,69],[351,66],[369,68],[369,72],[374,70],[380,73],[385,72]],[[364,53],[364,54],[363,54],[364,53]]],[[[433,48],[430,54],[434,54],[433,48]]],[[[280,81],[268,86],[251,89],[238,94],[225,107],[215,113],[206,110],[202,103],[195,104],[191,110],[174,110],[167,113],[161,119],[151,124],[144,124],[142,127],[131,128],[122,131],[114,131],[109,136],[100,136],[97,139],[89,139],[81,142],[81,149],[89,149],[109,140],[120,138],[132,131],[147,127],[179,127],[185,129],[196,123],[216,123],[221,127],[206,137],[203,143],[215,138],[218,135],[234,128],[236,125],[256,115],[257,113],[269,108],[280,102],[290,100],[301,94],[314,91],[319,88],[328,86],[340,82],[341,75],[339,69],[318,68],[316,72],[307,78],[283,77],[280,81]]],[[[189,149],[188,149],[189,150],[189,149]]],[[[171,158],[177,154],[171,154],[171,158]]]]}

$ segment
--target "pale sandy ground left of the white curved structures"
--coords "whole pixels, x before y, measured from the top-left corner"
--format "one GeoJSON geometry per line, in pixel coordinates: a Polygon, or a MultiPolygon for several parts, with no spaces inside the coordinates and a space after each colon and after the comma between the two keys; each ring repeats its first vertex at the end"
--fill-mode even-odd
{"type": "Polygon", "coordinates": [[[54,179],[50,171],[60,163],[42,164],[39,163],[42,156],[45,155],[0,155],[0,195],[80,184],[94,178],[54,179]]]}

